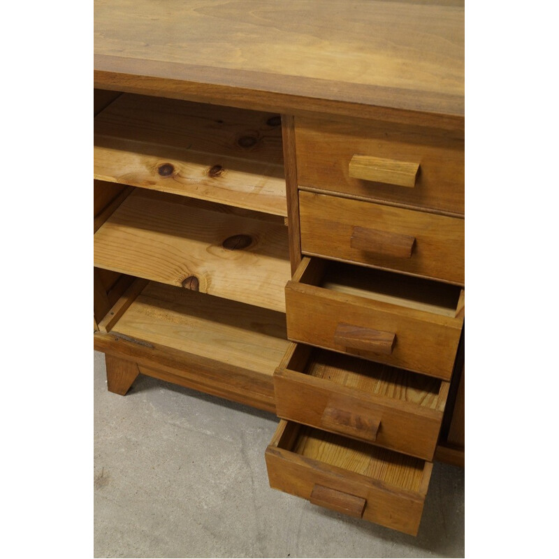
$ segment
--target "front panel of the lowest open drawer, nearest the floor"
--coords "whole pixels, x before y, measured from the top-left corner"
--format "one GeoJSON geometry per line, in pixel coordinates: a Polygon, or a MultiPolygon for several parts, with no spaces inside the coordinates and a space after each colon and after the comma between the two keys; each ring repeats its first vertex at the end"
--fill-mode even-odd
{"type": "MultiPolygon", "coordinates": [[[[296,444],[289,439],[296,437],[297,428],[295,423],[280,421],[266,449],[270,487],[342,514],[417,534],[432,463],[423,463],[421,484],[416,491],[409,491],[378,481],[373,475],[350,472],[289,450],[291,444],[296,444]]],[[[337,445],[337,453],[347,453],[350,460],[355,451],[351,444],[347,448],[337,445]]]]}

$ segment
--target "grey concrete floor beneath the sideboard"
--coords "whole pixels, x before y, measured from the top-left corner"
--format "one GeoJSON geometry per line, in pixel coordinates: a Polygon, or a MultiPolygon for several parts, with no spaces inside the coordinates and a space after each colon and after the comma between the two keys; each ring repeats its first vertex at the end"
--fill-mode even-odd
{"type": "Polygon", "coordinates": [[[265,412],[140,375],[106,389],[94,352],[94,556],[464,557],[464,472],[435,463],[417,537],[270,489],[265,412]]]}

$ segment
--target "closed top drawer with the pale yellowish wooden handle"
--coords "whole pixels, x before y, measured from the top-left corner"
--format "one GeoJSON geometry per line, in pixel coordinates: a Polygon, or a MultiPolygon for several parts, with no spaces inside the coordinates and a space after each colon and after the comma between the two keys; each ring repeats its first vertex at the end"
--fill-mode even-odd
{"type": "Polygon", "coordinates": [[[300,187],[464,214],[463,132],[297,117],[295,137],[300,187]]]}

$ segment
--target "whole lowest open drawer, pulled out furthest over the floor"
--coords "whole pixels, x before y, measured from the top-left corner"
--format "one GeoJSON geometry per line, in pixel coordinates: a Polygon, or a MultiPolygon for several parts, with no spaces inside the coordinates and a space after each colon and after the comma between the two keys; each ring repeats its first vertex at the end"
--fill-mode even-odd
{"type": "Polygon", "coordinates": [[[433,464],[282,420],[266,467],[272,488],[416,535],[433,464]]]}

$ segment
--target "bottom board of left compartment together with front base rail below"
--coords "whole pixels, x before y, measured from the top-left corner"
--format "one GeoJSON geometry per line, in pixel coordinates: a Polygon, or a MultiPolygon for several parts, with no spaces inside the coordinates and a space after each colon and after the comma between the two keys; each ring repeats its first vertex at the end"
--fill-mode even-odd
{"type": "Polygon", "coordinates": [[[137,363],[145,375],[275,412],[273,372],[289,345],[284,314],[138,284],[99,324],[95,349],[137,363]]]}

